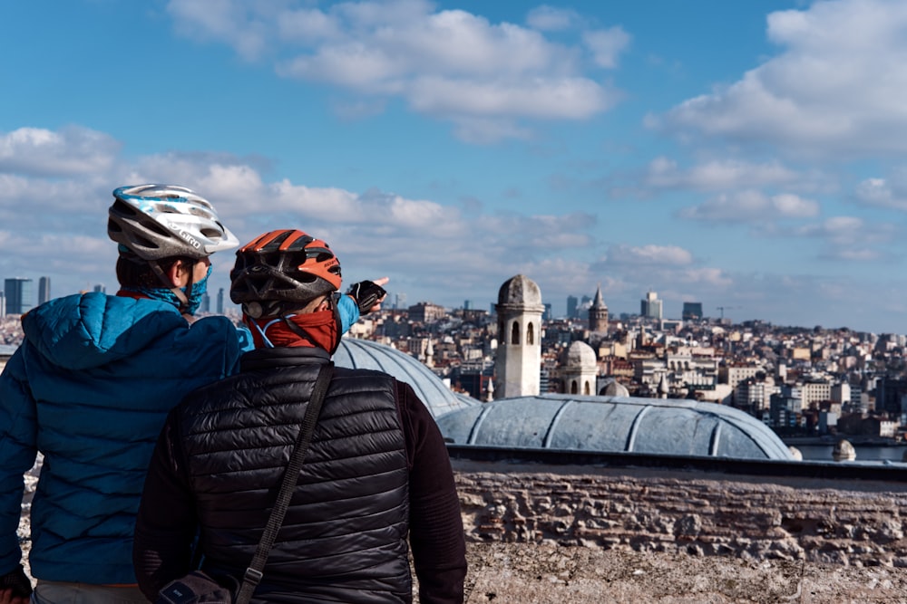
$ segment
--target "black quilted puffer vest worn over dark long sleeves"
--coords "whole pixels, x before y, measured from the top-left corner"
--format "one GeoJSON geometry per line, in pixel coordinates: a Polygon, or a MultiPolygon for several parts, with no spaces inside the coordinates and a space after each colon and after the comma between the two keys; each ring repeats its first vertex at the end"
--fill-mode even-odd
{"type": "MultiPolygon", "coordinates": [[[[256,350],[239,375],[195,391],[172,419],[194,494],[203,568],[241,578],[268,522],[320,350],[256,350]]],[[[408,468],[395,380],[334,369],[296,493],[256,600],[401,602],[408,468]]]]}

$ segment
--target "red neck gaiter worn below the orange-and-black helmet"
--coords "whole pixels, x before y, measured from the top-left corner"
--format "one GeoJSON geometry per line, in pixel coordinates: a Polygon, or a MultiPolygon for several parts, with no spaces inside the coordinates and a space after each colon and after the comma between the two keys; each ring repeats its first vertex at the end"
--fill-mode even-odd
{"type": "Polygon", "coordinates": [[[335,312],[330,310],[264,319],[252,319],[249,315],[244,314],[242,321],[252,332],[255,348],[307,346],[324,349],[334,354],[341,336],[340,323],[337,321],[335,312]],[[297,326],[297,330],[289,327],[287,321],[292,321],[297,326]],[[297,333],[297,331],[301,331],[301,333],[297,333]],[[303,333],[305,335],[302,335],[303,333]]]}

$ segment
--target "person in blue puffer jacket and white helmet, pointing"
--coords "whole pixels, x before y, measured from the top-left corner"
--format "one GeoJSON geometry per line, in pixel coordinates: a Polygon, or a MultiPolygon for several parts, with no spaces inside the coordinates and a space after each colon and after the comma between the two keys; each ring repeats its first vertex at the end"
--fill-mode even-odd
{"type": "MultiPolygon", "coordinates": [[[[37,602],[144,602],[132,570],[141,487],[167,413],[193,388],[234,373],[249,331],[221,316],[192,321],[210,254],[236,247],[213,206],[170,185],[113,192],[119,244],[110,296],[77,294],[22,318],[25,340],[0,376],[0,604],[31,583],[16,530],[23,474],[44,455],[31,512],[37,602]]],[[[368,307],[375,292],[371,282],[368,307]]],[[[378,283],[383,283],[379,281],[378,283]]],[[[339,302],[342,331],[359,317],[339,302]]]]}

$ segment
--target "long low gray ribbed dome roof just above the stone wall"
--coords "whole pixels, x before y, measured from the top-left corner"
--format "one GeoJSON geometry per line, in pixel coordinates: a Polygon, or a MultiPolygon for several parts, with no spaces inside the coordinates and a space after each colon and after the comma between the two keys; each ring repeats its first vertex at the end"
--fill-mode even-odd
{"type": "Polygon", "coordinates": [[[691,400],[544,395],[506,398],[438,419],[457,445],[605,453],[793,459],[765,424],[691,400]]]}

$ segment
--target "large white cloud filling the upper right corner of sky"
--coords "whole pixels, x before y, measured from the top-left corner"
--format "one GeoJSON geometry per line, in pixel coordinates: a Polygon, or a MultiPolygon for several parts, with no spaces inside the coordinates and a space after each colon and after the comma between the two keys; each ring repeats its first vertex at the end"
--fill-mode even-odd
{"type": "Polygon", "coordinates": [[[767,34],[782,53],[647,123],[815,155],[907,150],[907,3],[816,2],[769,14],[767,34]]]}

